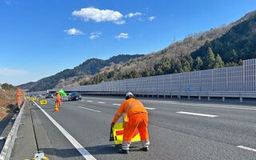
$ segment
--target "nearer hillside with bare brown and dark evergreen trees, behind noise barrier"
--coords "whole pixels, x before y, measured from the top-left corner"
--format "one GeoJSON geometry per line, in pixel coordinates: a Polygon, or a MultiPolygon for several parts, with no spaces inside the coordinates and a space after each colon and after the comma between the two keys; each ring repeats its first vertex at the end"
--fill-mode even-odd
{"type": "Polygon", "coordinates": [[[256,58],[256,11],[228,26],[191,35],[164,50],[135,58],[125,65],[104,68],[81,85],[102,81],[140,78],[161,74],[241,66],[242,60],[256,58]]]}

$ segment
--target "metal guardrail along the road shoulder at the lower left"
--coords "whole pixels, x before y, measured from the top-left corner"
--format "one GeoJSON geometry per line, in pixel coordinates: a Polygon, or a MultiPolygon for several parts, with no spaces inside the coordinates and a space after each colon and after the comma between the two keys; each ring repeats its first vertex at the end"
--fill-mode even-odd
{"type": "Polygon", "coordinates": [[[10,154],[14,147],[14,141],[17,138],[18,126],[20,125],[20,122],[22,119],[22,114],[23,114],[25,104],[26,104],[26,101],[23,102],[22,108],[19,111],[17,118],[15,119],[14,125],[12,126],[10,133],[6,138],[5,145],[3,146],[2,152],[0,154],[0,160],[10,159],[10,154]]]}

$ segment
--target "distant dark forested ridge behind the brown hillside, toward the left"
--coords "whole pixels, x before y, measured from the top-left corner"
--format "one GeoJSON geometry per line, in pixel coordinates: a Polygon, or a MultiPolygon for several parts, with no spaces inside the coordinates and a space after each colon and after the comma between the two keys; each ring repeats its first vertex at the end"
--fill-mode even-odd
{"type": "Polygon", "coordinates": [[[74,67],[74,69],[66,69],[58,74],[54,74],[47,78],[42,78],[38,80],[38,82],[28,82],[18,87],[30,91],[51,89],[61,83],[62,79],[66,80],[68,78],[75,77],[76,81],[78,81],[79,79],[84,78],[86,75],[96,74],[99,69],[102,69],[105,66],[111,66],[113,63],[127,62],[130,59],[139,58],[141,56],[142,54],[120,54],[107,60],[91,58],[86,60],[86,62],[83,62],[81,65],[74,67]]]}

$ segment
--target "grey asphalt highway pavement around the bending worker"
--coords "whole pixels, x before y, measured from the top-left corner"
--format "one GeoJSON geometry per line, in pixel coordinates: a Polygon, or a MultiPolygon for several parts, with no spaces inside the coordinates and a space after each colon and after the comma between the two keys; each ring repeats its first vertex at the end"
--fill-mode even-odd
{"type": "Polygon", "coordinates": [[[46,105],[29,102],[40,126],[35,128],[38,147],[50,159],[256,159],[256,106],[138,99],[149,113],[149,152],[134,144],[130,154],[118,154],[109,142],[110,123],[125,99],[101,96],[63,99],[59,112],[54,112],[55,99],[46,105]]]}

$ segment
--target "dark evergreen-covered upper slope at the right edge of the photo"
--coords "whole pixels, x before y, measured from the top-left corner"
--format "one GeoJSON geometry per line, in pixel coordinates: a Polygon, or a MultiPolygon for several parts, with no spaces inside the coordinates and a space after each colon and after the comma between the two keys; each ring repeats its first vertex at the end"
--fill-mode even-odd
{"type": "Polygon", "coordinates": [[[225,63],[256,58],[256,12],[248,14],[246,20],[233,26],[221,38],[207,41],[199,50],[194,51],[191,57],[204,58],[209,48],[215,55],[219,54],[225,63]]]}

